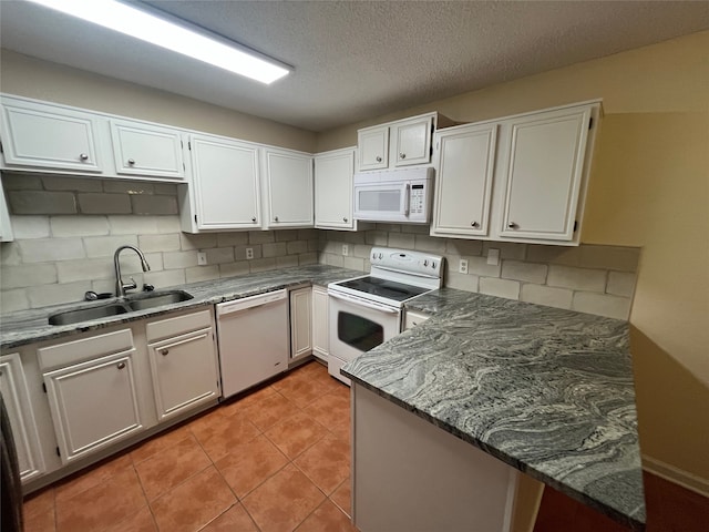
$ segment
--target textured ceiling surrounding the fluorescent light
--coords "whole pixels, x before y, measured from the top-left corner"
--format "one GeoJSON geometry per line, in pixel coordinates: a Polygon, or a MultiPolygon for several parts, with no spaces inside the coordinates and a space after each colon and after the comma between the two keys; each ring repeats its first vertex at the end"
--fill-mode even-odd
{"type": "Polygon", "coordinates": [[[2,48],[311,131],[709,28],[707,1],[143,2],[295,66],[270,86],[17,0],[2,48]]]}

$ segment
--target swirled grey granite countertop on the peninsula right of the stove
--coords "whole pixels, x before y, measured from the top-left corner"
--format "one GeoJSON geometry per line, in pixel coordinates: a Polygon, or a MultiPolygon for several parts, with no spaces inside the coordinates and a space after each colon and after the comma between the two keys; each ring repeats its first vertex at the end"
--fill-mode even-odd
{"type": "Polygon", "coordinates": [[[342,372],[533,478],[643,530],[625,321],[443,288],[424,324],[342,372]]]}

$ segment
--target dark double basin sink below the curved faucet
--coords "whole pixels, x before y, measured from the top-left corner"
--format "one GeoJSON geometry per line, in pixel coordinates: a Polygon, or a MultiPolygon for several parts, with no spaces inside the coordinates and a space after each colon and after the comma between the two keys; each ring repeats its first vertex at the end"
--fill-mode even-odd
{"type": "Polygon", "coordinates": [[[91,319],[110,318],[121,314],[134,313],[146,308],[171,305],[173,303],[187,301],[194,296],[183,290],[148,291],[129,296],[122,300],[114,300],[99,306],[64,310],[52,314],[49,325],[71,325],[91,319]]]}

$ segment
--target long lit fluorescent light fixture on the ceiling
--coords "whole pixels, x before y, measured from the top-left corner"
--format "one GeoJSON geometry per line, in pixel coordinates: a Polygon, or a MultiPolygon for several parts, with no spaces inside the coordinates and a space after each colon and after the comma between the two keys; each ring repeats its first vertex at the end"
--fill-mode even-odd
{"type": "Polygon", "coordinates": [[[225,44],[223,41],[226,39],[206,37],[202,31],[187,29],[115,0],[29,1],[120,31],[261,83],[270,84],[292,70],[230,41],[227,41],[229,44],[225,44]]]}

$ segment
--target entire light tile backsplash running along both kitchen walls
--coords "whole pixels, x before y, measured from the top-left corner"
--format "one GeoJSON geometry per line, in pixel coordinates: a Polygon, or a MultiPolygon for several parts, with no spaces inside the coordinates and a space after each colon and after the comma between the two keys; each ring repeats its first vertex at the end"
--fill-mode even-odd
{"type": "Polygon", "coordinates": [[[429,236],[428,226],[377,224],[367,231],[280,229],[191,235],[182,233],[177,185],[6,174],[16,239],[0,244],[0,311],[80,300],[86,290],[113,291],[113,254],[124,279],[157,288],[249,272],[320,262],[368,272],[372,246],[418,249],[446,257],[445,285],[627,319],[639,248],[513,244],[429,236]],[[348,255],[342,255],[347,244],[348,255]],[[254,259],[246,259],[246,248],[254,259]],[[500,249],[497,265],[489,249],[500,249]],[[204,252],[207,265],[197,265],[204,252]],[[467,274],[458,273],[461,258],[467,274]]]}

